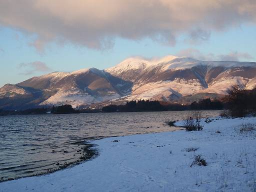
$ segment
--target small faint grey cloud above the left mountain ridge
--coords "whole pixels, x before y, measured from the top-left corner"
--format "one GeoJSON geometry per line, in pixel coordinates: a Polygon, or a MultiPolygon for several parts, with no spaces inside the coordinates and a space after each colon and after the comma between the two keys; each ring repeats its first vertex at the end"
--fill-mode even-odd
{"type": "Polygon", "coordinates": [[[28,63],[20,63],[17,68],[24,70],[24,72],[20,72],[20,74],[32,74],[34,72],[47,72],[51,69],[41,61],[34,61],[28,63]]]}

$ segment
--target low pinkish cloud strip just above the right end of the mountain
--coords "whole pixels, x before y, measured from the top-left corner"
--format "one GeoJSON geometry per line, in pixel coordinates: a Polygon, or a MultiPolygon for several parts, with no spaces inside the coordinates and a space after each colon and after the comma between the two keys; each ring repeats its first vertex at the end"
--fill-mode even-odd
{"type": "Polygon", "coordinates": [[[225,60],[225,61],[240,61],[241,59],[253,59],[246,52],[230,51],[227,54],[202,53],[196,48],[186,48],[178,51],[177,56],[188,56],[198,60],[225,60]]]}

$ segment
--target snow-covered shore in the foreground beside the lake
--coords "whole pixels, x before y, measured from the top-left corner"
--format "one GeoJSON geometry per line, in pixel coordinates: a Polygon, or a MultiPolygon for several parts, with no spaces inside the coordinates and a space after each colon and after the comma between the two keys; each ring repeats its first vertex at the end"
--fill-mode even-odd
{"type": "Polygon", "coordinates": [[[1,182],[0,191],[255,191],[256,130],[239,131],[248,122],[255,125],[256,118],[216,119],[201,131],[96,140],[96,158],[51,174],[1,182]],[[188,151],[190,147],[197,150],[188,151]],[[190,167],[197,154],[207,166],[190,167]]]}

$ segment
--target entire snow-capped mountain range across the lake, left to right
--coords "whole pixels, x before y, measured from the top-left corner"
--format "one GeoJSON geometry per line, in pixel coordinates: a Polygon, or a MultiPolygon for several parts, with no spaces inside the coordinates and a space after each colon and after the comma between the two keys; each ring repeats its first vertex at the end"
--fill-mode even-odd
{"type": "Polygon", "coordinates": [[[52,72],[0,88],[0,108],[45,104],[112,103],[132,99],[191,101],[226,94],[232,84],[256,85],[256,62],[200,61],[190,57],[128,58],[105,70],[52,72]]]}

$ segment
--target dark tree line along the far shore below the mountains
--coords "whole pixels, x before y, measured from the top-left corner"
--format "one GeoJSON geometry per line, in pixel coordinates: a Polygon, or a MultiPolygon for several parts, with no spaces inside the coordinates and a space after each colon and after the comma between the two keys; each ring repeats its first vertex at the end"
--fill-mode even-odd
{"type": "Polygon", "coordinates": [[[29,108],[25,110],[0,110],[0,115],[15,114],[66,114],[66,113],[89,113],[89,112],[135,112],[135,111],[165,111],[165,110],[206,110],[206,109],[222,109],[223,104],[218,100],[202,99],[191,104],[179,103],[161,103],[158,100],[131,100],[124,105],[110,104],[102,107],[102,109],[81,108],[74,109],[69,104],[29,108]]]}

